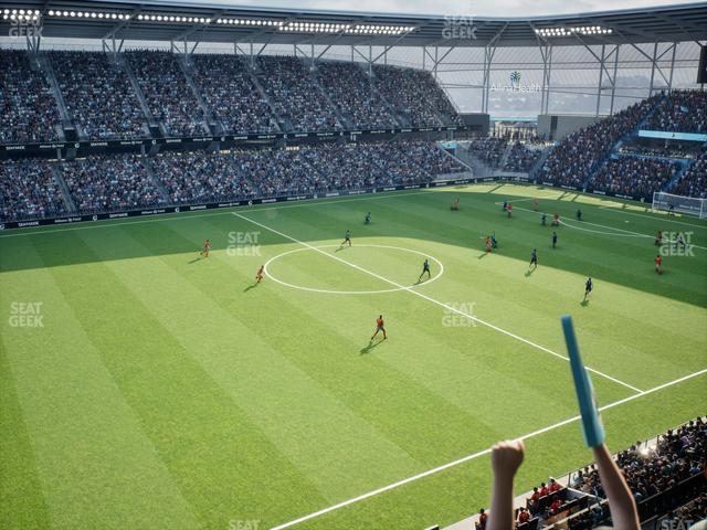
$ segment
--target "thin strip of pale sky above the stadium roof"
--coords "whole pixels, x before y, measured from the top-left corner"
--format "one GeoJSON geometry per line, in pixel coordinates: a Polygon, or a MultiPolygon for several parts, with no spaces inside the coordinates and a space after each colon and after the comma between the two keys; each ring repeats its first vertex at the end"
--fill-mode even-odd
{"type": "MultiPolygon", "coordinates": [[[[328,9],[387,13],[466,14],[477,17],[528,17],[538,14],[583,13],[616,9],[650,8],[699,0],[210,0],[229,6],[258,8],[328,9]]],[[[165,1],[165,3],[172,3],[165,1]]]]}

